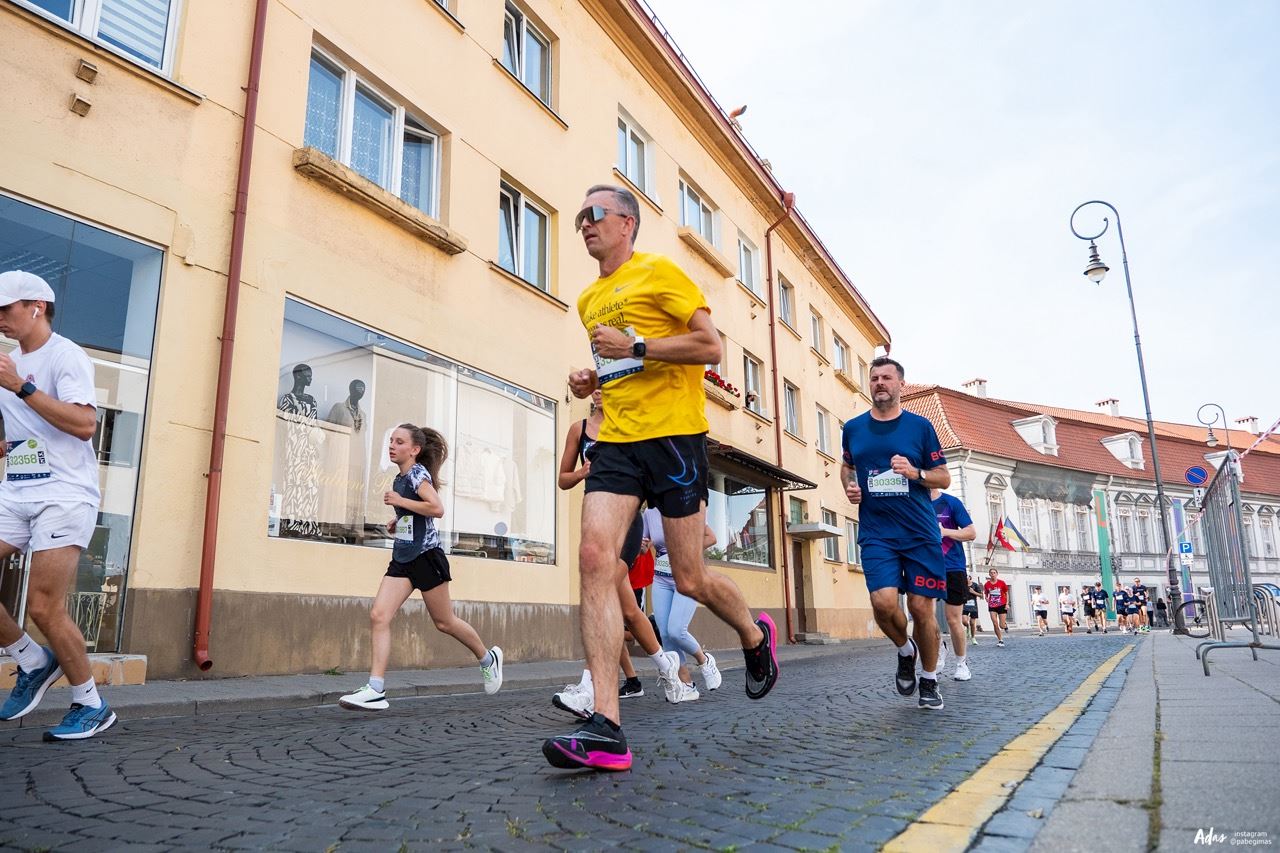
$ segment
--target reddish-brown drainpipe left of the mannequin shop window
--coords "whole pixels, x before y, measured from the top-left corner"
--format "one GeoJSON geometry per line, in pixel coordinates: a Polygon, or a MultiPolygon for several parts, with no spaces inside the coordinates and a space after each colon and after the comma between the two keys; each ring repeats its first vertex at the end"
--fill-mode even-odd
{"type": "Polygon", "coordinates": [[[209,488],[205,493],[204,548],[200,553],[200,590],[196,594],[196,631],[192,660],[207,671],[209,628],[214,608],[214,565],[218,553],[218,514],[223,494],[223,455],[227,450],[227,406],[232,387],[232,353],[236,350],[236,315],[239,309],[241,269],[244,263],[244,216],[248,210],[248,175],[257,129],[257,87],[262,78],[262,44],[266,41],[266,4],[253,10],[253,41],[244,86],[244,126],[241,129],[239,173],[236,177],[236,207],[232,211],[232,248],[227,264],[227,302],[223,307],[223,343],[218,357],[218,394],[214,401],[214,435],[209,448],[209,488]]]}

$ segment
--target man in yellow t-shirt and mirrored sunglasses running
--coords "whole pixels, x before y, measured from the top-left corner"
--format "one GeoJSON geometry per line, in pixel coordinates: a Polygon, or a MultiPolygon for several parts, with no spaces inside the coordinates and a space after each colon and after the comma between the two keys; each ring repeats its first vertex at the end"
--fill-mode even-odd
{"type": "MultiPolygon", "coordinates": [[[[746,657],[746,694],[763,698],[778,676],[777,630],[753,620],[741,590],[703,562],[707,517],[707,396],[703,365],[721,357],[719,333],[698,286],[660,255],[635,252],[640,205],[622,187],[586,191],[575,220],[600,278],[579,297],[595,369],[575,370],[579,398],[600,388],[604,424],[591,448],[582,500],[579,574],[582,647],[595,683],[613,678],[622,649],[618,552],[645,501],[662,514],[676,588],[737,631],[746,657]]],[[[612,690],[575,731],[543,743],[554,767],[626,770],[631,751],[612,690]]]]}

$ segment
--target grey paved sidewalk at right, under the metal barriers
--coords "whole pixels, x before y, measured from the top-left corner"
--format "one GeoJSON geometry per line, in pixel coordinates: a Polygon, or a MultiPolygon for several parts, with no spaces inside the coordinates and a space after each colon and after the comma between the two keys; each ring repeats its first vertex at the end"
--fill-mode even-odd
{"type": "Polygon", "coordinates": [[[1030,815],[1038,834],[993,836],[1027,824],[1006,809],[980,849],[1280,847],[1280,653],[1261,651],[1254,662],[1248,649],[1215,649],[1204,678],[1199,642],[1149,634],[1065,794],[1047,820],[1030,815]]]}

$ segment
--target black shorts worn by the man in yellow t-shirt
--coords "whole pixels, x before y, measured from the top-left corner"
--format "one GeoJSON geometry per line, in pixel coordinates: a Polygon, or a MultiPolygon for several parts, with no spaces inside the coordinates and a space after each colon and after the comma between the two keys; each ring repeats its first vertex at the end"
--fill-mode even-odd
{"type": "Polygon", "coordinates": [[[639,442],[596,442],[588,452],[586,492],[630,494],[667,519],[685,519],[707,502],[707,434],[639,442]]]}

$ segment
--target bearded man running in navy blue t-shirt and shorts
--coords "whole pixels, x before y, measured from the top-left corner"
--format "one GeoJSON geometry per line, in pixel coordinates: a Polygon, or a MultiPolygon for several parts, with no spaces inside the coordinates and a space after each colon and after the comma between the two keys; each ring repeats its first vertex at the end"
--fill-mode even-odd
{"type": "Polygon", "coordinates": [[[951,485],[951,473],[933,424],[902,410],[902,379],[897,361],[887,356],[872,361],[872,409],[845,421],[840,476],[849,502],[860,506],[863,574],[876,624],[897,646],[897,692],[915,693],[919,657],[919,706],[938,710],[941,637],[933,608],[946,594],[947,578],[929,489],[951,485]],[[906,593],[913,637],[906,634],[899,593],[906,593]]]}

